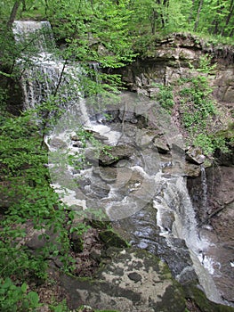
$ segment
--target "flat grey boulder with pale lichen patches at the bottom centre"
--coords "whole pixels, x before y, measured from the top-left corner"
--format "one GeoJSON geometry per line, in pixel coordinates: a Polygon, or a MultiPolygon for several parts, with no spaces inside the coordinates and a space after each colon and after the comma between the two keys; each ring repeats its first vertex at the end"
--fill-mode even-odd
{"type": "Polygon", "coordinates": [[[120,312],[184,311],[182,287],[164,262],[144,250],[109,250],[111,256],[113,261],[93,282],[62,278],[70,292],[70,308],[86,304],[120,312]]]}

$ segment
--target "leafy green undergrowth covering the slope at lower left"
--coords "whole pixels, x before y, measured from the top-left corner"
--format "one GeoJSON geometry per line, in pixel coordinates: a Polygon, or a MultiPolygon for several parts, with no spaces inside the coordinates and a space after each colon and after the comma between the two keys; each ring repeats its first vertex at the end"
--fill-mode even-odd
{"type": "Polygon", "coordinates": [[[0,310],[35,311],[38,295],[27,285],[48,279],[50,259],[59,259],[61,269],[72,274],[69,236],[88,226],[73,222],[75,213],[50,186],[47,151],[32,115],[2,116],[1,128],[0,310]],[[36,250],[28,248],[28,232],[37,236],[36,250]]]}

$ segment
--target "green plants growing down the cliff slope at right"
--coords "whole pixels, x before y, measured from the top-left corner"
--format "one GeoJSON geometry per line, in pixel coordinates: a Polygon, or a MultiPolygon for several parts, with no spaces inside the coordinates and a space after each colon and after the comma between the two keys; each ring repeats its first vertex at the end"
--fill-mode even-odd
{"type": "Polygon", "coordinates": [[[217,149],[229,152],[225,136],[211,131],[218,115],[210,86],[210,75],[214,74],[216,65],[211,61],[207,55],[201,57],[199,67],[191,67],[191,77],[181,78],[179,82],[182,126],[190,135],[190,144],[200,147],[206,155],[217,149]]]}

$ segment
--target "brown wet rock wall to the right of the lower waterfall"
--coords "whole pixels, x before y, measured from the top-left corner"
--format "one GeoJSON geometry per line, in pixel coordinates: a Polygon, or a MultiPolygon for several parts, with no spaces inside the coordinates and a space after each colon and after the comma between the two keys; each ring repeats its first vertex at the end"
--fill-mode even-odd
{"type": "Polygon", "coordinates": [[[205,177],[189,179],[188,186],[194,207],[200,221],[200,236],[213,246],[206,250],[206,256],[213,259],[214,282],[225,300],[234,301],[233,292],[233,183],[234,169],[217,167],[206,169],[205,177]],[[206,183],[206,185],[204,185],[206,183]],[[204,188],[206,205],[204,204],[204,188]]]}

